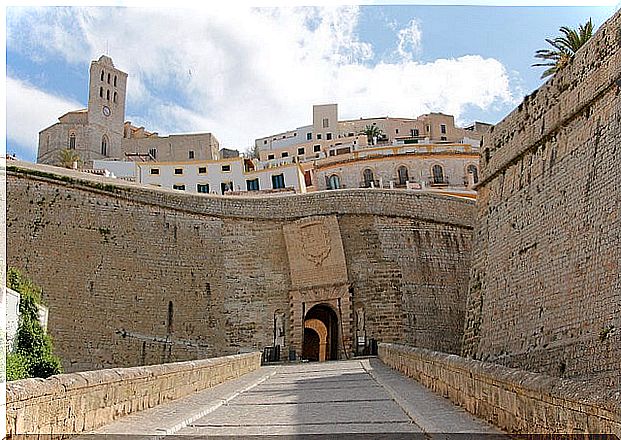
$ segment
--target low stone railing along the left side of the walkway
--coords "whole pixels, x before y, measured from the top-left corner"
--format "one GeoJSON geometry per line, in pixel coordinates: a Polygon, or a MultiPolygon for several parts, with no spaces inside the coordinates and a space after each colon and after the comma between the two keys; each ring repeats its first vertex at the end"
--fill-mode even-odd
{"type": "MultiPolygon", "coordinates": [[[[261,353],[189,362],[60,374],[7,383],[6,432],[88,432],[122,416],[238,378],[261,365],[261,353]]],[[[46,437],[48,438],[48,437],[46,437]]]]}

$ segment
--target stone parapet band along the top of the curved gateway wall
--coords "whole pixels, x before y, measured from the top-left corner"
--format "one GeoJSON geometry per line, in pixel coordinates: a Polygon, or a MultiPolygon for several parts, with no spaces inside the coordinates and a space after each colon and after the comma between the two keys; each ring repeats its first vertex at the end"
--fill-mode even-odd
{"type": "Polygon", "coordinates": [[[474,226],[474,202],[406,190],[348,189],[261,197],[197,195],[26,162],[7,166],[8,178],[63,184],[118,199],[191,214],[253,220],[291,220],[313,215],[366,214],[419,218],[474,226]]]}

